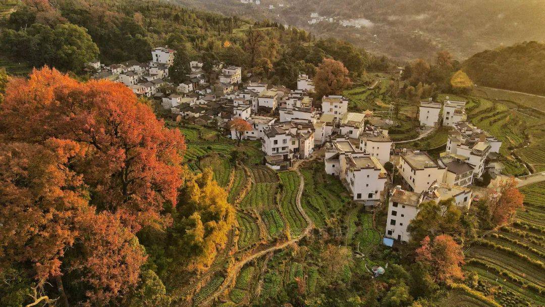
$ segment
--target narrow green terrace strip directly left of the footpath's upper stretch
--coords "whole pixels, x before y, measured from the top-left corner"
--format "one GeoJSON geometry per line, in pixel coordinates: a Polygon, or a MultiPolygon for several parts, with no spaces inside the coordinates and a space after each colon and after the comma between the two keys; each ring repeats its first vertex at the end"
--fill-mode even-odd
{"type": "Polygon", "coordinates": [[[292,236],[299,236],[307,226],[305,218],[297,208],[296,198],[299,189],[299,176],[293,171],[281,172],[278,174],[282,183],[282,196],[280,198],[280,209],[289,224],[289,231],[292,236]]]}

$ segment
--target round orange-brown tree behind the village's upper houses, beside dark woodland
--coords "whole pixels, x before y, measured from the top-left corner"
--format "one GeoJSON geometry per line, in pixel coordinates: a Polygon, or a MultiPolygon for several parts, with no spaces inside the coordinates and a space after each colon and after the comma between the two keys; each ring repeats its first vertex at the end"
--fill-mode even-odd
{"type": "Polygon", "coordinates": [[[348,77],[348,69],[342,62],[324,58],[322,64],[318,65],[314,75],[314,88],[320,96],[340,95],[350,85],[352,81],[348,77]]]}

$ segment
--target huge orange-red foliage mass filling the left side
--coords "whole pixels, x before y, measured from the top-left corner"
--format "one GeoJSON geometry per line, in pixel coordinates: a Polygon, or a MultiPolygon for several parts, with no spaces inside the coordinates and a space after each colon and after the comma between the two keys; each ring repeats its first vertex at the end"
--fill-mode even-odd
{"type": "Polygon", "coordinates": [[[57,70],[12,79],[0,105],[0,270],[33,268],[106,305],[138,281],[135,234],[166,226],[183,184],[184,137],[123,85],[57,70]]]}

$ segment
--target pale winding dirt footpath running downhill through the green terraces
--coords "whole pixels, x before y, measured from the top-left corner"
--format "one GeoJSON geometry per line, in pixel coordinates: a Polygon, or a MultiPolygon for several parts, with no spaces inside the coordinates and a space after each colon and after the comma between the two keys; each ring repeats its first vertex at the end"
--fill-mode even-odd
{"type": "MultiPolygon", "coordinates": [[[[314,156],[311,160],[314,160],[316,158],[317,157],[314,156]]],[[[232,285],[235,282],[240,270],[245,266],[246,263],[248,263],[248,262],[250,262],[252,260],[255,260],[255,259],[259,258],[259,257],[262,257],[262,256],[268,254],[269,252],[284,249],[287,246],[292,245],[294,243],[297,243],[302,238],[308,236],[308,234],[310,233],[310,231],[314,227],[314,223],[312,222],[310,217],[307,215],[307,213],[305,212],[305,210],[301,206],[301,197],[303,195],[303,190],[305,188],[305,177],[300,172],[299,166],[304,161],[305,160],[296,161],[293,168],[292,168],[292,170],[294,170],[297,173],[297,176],[299,176],[299,179],[300,179],[299,180],[299,189],[297,191],[297,197],[296,197],[296,200],[295,200],[295,204],[297,206],[297,209],[299,210],[299,212],[301,213],[301,215],[303,216],[303,218],[305,218],[305,220],[307,222],[307,227],[305,228],[305,230],[299,235],[299,237],[290,239],[290,240],[288,240],[286,242],[283,242],[283,243],[275,245],[275,246],[271,246],[270,248],[257,251],[254,254],[246,256],[245,258],[243,258],[240,261],[238,261],[237,263],[235,263],[233,265],[233,267],[227,273],[227,276],[226,276],[225,280],[223,280],[223,283],[221,284],[221,286],[219,288],[217,288],[217,290],[214,291],[214,293],[210,294],[210,296],[207,299],[205,299],[200,304],[200,306],[210,306],[212,303],[214,303],[214,301],[217,298],[219,298],[221,296],[221,294],[223,294],[229,288],[229,286],[232,285]]],[[[310,161],[310,160],[307,160],[307,161],[310,161]]]]}

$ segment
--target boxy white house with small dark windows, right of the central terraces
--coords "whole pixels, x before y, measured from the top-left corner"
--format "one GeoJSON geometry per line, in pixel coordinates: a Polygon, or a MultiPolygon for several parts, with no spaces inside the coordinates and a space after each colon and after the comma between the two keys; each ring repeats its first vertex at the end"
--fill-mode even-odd
{"type": "Polygon", "coordinates": [[[386,184],[386,170],[374,156],[353,153],[346,156],[346,184],[355,201],[378,201],[386,184]]]}

